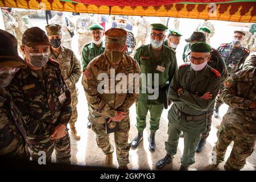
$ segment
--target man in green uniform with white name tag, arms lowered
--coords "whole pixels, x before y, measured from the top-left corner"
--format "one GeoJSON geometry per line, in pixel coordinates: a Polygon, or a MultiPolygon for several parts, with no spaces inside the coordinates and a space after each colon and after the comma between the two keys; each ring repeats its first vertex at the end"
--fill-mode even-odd
{"type": "Polygon", "coordinates": [[[159,129],[159,121],[164,107],[164,92],[167,91],[172,77],[177,69],[177,61],[175,51],[172,48],[163,45],[165,31],[168,28],[160,23],[151,24],[151,43],[139,47],[135,53],[136,59],[141,67],[141,72],[146,77],[152,76],[152,84],[142,82],[138,101],[136,103],[137,113],[137,130],[138,135],[131,142],[132,147],[137,147],[143,139],[143,130],[146,128],[146,115],[150,111],[150,139],[149,150],[155,150],[155,133],[159,129]],[[155,76],[159,76],[158,80],[154,80],[155,76]],[[155,86],[155,82],[159,86],[155,86]],[[142,93],[142,88],[147,88],[147,93],[142,93]],[[150,98],[150,91],[156,90],[152,95],[158,93],[158,97],[150,98]]]}

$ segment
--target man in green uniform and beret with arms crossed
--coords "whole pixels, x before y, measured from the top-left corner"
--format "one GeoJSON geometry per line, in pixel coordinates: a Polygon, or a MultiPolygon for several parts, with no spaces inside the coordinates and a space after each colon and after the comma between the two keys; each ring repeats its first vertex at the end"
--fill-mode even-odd
{"type": "Polygon", "coordinates": [[[172,163],[177,152],[180,131],[184,132],[184,150],[180,170],[195,163],[196,146],[205,132],[207,111],[214,103],[221,84],[221,75],[210,68],[211,48],[204,42],[191,45],[191,63],[181,65],[171,82],[168,98],[174,103],[168,112],[167,155],[156,163],[163,168],[172,163]]]}

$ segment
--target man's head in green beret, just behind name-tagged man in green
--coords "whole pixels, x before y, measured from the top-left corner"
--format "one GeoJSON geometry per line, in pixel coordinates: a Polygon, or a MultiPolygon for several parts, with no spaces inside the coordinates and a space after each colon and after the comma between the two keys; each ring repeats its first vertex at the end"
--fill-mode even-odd
{"type": "Polygon", "coordinates": [[[164,45],[176,50],[177,46],[180,44],[181,34],[179,31],[172,29],[169,30],[169,34],[166,40],[164,40],[164,45]]]}

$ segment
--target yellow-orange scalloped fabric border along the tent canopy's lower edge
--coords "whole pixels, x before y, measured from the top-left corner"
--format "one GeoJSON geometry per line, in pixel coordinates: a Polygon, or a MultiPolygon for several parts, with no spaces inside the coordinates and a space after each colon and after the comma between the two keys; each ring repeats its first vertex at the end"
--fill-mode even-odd
{"type": "Polygon", "coordinates": [[[93,14],[170,16],[177,18],[256,22],[256,2],[175,3],[160,6],[100,6],[59,0],[0,0],[1,7],[44,9],[93,14]],[[216,10],[214,10],[216,8],[216,10]]]}

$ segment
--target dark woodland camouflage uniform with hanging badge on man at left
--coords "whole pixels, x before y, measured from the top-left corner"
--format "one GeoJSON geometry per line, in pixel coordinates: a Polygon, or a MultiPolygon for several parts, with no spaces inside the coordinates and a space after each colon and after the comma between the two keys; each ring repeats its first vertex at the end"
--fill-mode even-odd
{"type": "Polygon", "coordinates": [[[38,152],[44,151],[47,162],[51,162],[55,148],[56,162],[70,163],[69,135],[56,140],[50,136],[57,125],[67,125],[72,111],[71,95],[56,61],[49,59],[42,69],[43,79],[29,67],[20,69],[9,85],[10,93],[26,122],[32,160],[37,161],[38,152]],[[66,98],[60,100],[63,94],[66,98]]]}

